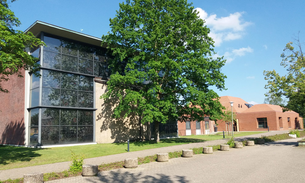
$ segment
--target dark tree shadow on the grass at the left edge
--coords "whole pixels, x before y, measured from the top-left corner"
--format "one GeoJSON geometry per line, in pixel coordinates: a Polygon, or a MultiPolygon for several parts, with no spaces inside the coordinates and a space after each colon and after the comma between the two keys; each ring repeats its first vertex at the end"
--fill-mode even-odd
{"type": "Polygon", "coordinates": [[[35,152],[40,149],[0,145],[0,165],[7,165],[17,161],[30,161],[34,157],[41,156],[35,152]]]}

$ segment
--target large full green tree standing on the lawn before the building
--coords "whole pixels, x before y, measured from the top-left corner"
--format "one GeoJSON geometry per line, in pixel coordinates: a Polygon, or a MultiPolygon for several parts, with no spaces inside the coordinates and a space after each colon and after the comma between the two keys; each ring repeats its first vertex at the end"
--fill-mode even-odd
{"type": "Polygon", "coordinates": [[[141,122],[220,119],[223,106],[210,89],[224,88],[221,67],[212,59],[209,28],[186,0],[127,0],[110,19],[102,38],[115,58],[107,82],[106,101],[118,98],[113,117],[134,113],[141,122]]]}

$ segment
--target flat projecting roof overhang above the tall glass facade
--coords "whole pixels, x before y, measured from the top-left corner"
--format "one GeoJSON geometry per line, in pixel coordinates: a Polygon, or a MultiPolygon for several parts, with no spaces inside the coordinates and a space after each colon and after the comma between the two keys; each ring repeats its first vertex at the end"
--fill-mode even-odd
{"type": "MultiPolygon", "coordinates": [[[[24,32],[32,32],[34,34],[34,36],[36,36],[36,37],[38,37],[38,35],[41,32],[45,32],[48,34],[53,34],[56,36],[88,43],[91,45],[101,46],[101,44],[102,44],[101,38],[96,38],[96,37],[93,37],[93,36],[90,36],[87,34],[76,32],[76,31],[69,30],[69,29],[66,29],[63,27],[41,22],[38,20],[35,23],[33,23],[29,28],[27,28],[27,30],[25,30],[24,32]]],[[[104,45],[103,47],[106,48],[106,45],[104,45]]]]}

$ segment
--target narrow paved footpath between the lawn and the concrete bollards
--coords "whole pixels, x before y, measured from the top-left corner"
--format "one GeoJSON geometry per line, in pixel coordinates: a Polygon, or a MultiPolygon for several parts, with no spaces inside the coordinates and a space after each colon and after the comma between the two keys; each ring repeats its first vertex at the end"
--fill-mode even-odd
{"type": "MultiPolygon", "coordinates": [[[[242,137],[236,137],[235,141],[246,140],[248,138],[258,138],[261,135],[275,135],[281,133],[287,133],[288,131],[269,131],[262,134],[254,134],[254,135],[247,135],[242,137]]],[[[213,141],[205,141],[205,142],[198,142],[198,143],[191,143],[191,144],[182,144],[182,145],[174,145],[169,147],[160,147],[155,149],[146,149],[142,151],[135,151],[135,152],[125,152],[121,154],[114,154],[109,156],[100,156],[95,158],[88,158],[84,160],[84,164],[103,164],[103,163],[113,163],[117,161],[123,161],[126,158],[130,157],[145,157],[151,156],[159,152],[174,152],[181,149],[191,149],[195,147],[204,147],[209,145],[218,145],[226,143],[225,139],[221,140],[213,140],[213,141]]],[[[23,178],[24,174],[30,172],[60,172],[63,170],[69,169],[70,161],[60,162],[60,163],[52,163],[52,164],[45,164],[45,165],[37,165],[32,167],[23,167],[23,168],[15,168],[9,170],[0,170],[0,180],[7,180],[9,178],[23,178]]]]}

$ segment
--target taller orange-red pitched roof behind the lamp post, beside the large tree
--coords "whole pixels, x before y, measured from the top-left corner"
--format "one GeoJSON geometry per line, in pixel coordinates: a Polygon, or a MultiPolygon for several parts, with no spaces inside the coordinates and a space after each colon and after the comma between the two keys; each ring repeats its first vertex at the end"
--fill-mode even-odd
{"type": "MultiPolygon", "coordinates": [[[[233,113],[242,113],[243,111],[245,111],[246,109],[248,109],[248,107],[245,105],[248,102],[244,101],[241,98],[238,97],[231,97],[231,96],[222,96],[219,99],[219,102],[227,109],[227,110],[231,110],[231,104],[230,102],[234,102],[233,103],[233,113]]],[[[251,107],[252,108],[252,107],[251,107]]]]}

